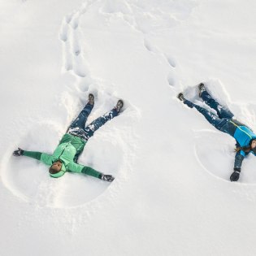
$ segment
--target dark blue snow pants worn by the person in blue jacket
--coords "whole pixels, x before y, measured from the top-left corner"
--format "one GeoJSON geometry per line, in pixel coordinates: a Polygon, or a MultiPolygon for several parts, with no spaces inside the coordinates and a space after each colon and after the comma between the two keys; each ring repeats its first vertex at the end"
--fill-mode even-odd
{"type": "Polygon", "coordinates": [[[230,130],[230,125],[228,125],[229,120],[234,116],[232,112],[229,111],[227,107],[221,106],[219,102],[215,101],[215,99],[212,98],[206,91],[202,92],[201,98],[204,102],[206,102],[208,106],[210,106],[210,108],[217,112],[217,115],[211,111],[207,111],[202,106],[198,106],[193,102],[189,102],[188,100],[184,100],[184,104],[191,108],[195,107],[197,111],[204,115],[206,120],[219,131],[232,134],[233,131],[230,130]]]}

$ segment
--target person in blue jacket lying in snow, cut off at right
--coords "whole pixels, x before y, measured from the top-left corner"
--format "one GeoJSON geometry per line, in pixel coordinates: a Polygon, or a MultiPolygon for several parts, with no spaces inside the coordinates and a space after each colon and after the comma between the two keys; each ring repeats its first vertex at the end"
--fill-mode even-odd
{"type": "Polygon", "coordinates": [[[217,115],[211,111],[207,111],[205,108],[189,102],[184,98],[183,93],[178,94],[178,98],[181,102],[189,106],[190,108],[195,107],[202,115],[205,116],[207,121],[212,124],[221,132],[226,132],[236,140],[236,156],[232,175],[230,176],[231,181],[237,181],[241,172],[241,164],[246,155],[252,153],[256,155],[256,135],[254,132],[245,124],[233,119],[234,115],[227,107],[221,106],[219,102],[216,102],[214,98],[206,91],[204,84],[198,85],[199,97],[212,109],[217,112],[217,115]]]}

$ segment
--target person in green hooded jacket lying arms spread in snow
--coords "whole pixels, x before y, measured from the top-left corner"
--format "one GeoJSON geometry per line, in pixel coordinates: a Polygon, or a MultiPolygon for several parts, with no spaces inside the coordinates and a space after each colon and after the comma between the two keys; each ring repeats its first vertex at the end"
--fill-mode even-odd
{"type": "Polygon", "coordinates": [[[98,128],[119,114],[119,111],[124,106],[124,102],[119,100],[116,106],[110,112],[99,117],[98,119],[95,119],[91,124],[85,127],[85,122],[93,109],[93,105],[94,96],[90,93],[87,104],[77,118],[72,122],[70,127],[67,128],[67,133],[62,137],[59,145],[54,150],[54,154],[27,151],[18,148],[18,150],[13,152],[13,155],[25,155],[30,158],[40,160],[42,163],[50,166],[50,176],[54,178],[63,176],[66,171],[72,171],[82,172],[89,176],[112,182],[115,179],[113,176],[104,175],[91,167],[85,167],[76,162],[78,156],[84,150],[85,144],[89,138],[93,136],[93,133],[97,131],[98,128]]]}

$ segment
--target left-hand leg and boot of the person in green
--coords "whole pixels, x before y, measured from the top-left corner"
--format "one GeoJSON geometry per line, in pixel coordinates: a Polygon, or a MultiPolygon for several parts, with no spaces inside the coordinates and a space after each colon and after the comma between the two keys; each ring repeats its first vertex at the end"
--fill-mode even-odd
{"type": "Polygon", "coordinates": [[[93,94],[89,94],[89,99],[87,104],[85,105],[84,109],[82,111],[80,111],[80,114],[76,117],[76,119],[72,122],[72,124],[70,125],[70,127],[68,129],[72,129],[72,128],[85,128],[85,123],[86,120],[90,114],[90,112],[93,109],[93,104],[94,104],[94,97],[93,94]]]}

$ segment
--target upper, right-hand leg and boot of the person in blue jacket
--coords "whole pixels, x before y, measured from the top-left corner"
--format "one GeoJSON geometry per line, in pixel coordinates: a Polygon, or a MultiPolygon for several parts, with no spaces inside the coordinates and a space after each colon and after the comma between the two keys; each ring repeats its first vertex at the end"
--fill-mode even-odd
{"type": "Polygon", "coordinates": [[[199,85],[199,90],[200,90],[199,96],[202,98],[204,102],[206,102],[208,106],[210,106],[212,109],[217,111],[217,114],[220,119],[222,118],[232,119],[232,117],[234,116],[232,112],[229,111],[229,109],[226,106],[221,106],[219,102],[217,102],[214,98],[212,98],[210,94],[206,91],[203,84],[199,85]]]}

